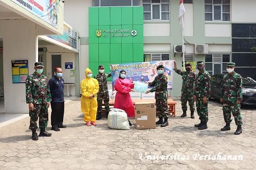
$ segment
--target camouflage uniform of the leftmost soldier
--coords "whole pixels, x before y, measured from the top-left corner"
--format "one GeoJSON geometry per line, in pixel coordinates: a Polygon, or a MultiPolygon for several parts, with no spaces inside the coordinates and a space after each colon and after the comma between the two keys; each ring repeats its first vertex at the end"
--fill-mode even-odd
{"type": "Polygon", "coordinates": [[[47,77],[45,75],[31,74],[26,79],[26,103],[34,104],[34,110],[29,111],[31,130],[46,128],[48,124],[47,102],[51,102],[47,77]]]}

